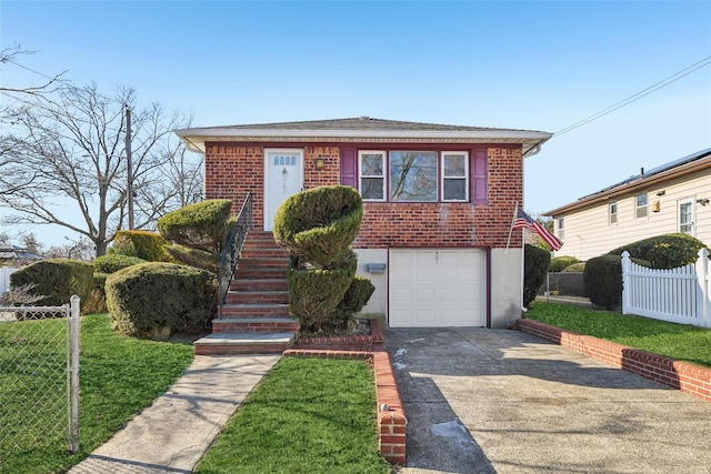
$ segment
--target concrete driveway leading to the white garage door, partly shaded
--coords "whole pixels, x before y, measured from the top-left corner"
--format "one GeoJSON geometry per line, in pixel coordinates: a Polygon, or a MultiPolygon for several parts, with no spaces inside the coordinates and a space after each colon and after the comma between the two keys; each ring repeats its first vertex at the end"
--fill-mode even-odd
{"type": "Polygon", "coordinates": [[[399,473],[711,473],[711,403],[518,331],[383,332],[399,473]]]}

